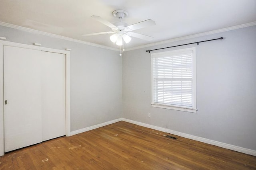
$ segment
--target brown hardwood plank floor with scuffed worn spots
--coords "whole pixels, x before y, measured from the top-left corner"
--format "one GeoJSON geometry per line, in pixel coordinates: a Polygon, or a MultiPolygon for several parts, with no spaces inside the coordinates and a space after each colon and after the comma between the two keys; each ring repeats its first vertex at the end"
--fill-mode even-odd
{"type": "Polygon", "coordinates": [[[244,170],[256,156],[120,121],[0,157],[1,170],[244,170]]]}

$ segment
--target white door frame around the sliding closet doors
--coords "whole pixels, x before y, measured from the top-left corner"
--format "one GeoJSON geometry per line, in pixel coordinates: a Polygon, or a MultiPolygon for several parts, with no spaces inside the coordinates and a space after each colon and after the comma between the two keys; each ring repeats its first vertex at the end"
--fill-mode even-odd
{"type": "Polygon", "coordinates": [[[70,136],[70,51],[39,47],[0,40],[0,156],[4,155],[4,45],[61,53],[65,57],[66,86],[66,136],[70,136]]]}

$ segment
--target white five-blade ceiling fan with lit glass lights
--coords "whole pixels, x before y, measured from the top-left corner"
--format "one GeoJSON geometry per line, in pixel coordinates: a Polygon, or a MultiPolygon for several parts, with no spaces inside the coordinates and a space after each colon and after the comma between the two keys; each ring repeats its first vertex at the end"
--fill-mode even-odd
{"type": "Polygon", "coordinates": [[[91,16],[92,18],[98,20],[99,22],[103,23],[104,25],[107,25],[108,27],[110,27],[112,29],[112,31],[84,34],[83,36],[114,33],[113,35],[110,36],[110,40],[119,46],[123,45],[123,40],[125,43],[129,43],[132,39],[131,37],[136,37],[136,38],[144,39],[147,41],[150,41],[153,39],[153,37],[151,37],[151,36],[143,35],[140,33],[135,33],[132,31],[134,31],[136,29],[148,27],[151,25],[156,25],[155,21],[149,19],[149,20],[141,21],[141,22],[127,26],[127,23],[123,22],[122,19],[124,17],[128,16],[128,12],[126,12],[125,10],[115,10],[114,12],[112,12],[112,15],[116,18],[119,18],[120,21],[112,24],[109,21],[104,20],[100,16],[91,16]]]}

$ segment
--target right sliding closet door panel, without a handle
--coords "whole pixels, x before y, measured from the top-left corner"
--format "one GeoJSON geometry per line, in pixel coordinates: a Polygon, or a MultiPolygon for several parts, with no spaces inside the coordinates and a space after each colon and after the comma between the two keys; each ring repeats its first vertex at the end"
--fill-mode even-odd
{"type": "Polygon", "coordinates": [[[42,140],[66,135],[65,55],[43,52],[42,140]]]}

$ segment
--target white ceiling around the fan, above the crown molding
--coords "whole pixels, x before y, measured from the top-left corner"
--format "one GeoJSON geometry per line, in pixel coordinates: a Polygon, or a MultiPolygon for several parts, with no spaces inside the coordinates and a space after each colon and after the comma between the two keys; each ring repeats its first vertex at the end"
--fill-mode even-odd
{"type": "Polygon", "coordinates": [[[128,25],[156,22],[134,31],[152,41],[132,38],[125,48],[256,21],[256,0],[0,0],[0,21],[118,49],[110,34],[82,35],[112,31],[90,16],[115,23],[112,12],[119,9],[128,12],[128,25]]]}

